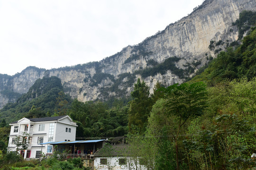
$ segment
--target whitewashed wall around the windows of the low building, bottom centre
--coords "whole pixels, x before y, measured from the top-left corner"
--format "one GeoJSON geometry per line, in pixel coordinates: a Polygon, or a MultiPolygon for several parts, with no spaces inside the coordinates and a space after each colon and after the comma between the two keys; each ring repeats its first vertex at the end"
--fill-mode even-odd
{"type": "MultiPolygon", "coordinates": [[[[101,159],[107,159],[108,161],[110,161],[110,167],[113,170],[129,170],[128,168],[128,161],[126,162],[126,165],[119,165],[119,159],[120,158],[124,158],[124,159],[128,159],[127,157],[95,157],[94,160],[94,169],[96,170],[108,170],[108,165],[101,165],[101,159]]],[[[130,166],[133,167],[132,169],[136,169],[134,162],[130,163],[130,166]]],[[[144,165],[138,165],[139,170],[146,170],[146,167],[144,165]]]]}

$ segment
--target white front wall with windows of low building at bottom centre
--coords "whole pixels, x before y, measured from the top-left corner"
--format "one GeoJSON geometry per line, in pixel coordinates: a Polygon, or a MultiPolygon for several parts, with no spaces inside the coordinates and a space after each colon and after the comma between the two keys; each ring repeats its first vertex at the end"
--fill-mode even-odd
{"type": "Polygon", "coordinates": [[[144,165],[140,165],[137,162],[137,168],[135,162],[129,157],[113,156],[113,157],[95,157],[94,159],[94,169],[96,170],[146,170],[144,165]],[[101,159],[105,159],[102,161],[101,159]],[[107,161],[107,164],[105,164],[107,161]]]}

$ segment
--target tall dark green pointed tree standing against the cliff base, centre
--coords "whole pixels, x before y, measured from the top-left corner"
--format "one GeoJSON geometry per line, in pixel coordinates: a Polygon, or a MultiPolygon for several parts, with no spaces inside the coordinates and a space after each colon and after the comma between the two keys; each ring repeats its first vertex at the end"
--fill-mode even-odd
{"type": "Polygon", "coordinates": [[[138,78],[131,96],[133,100],[129,102],[128,127],[131,131],[132,125],[137,126],[140,129],[140,133],[143,133],[146,130],[147,118],[153,105],[153,101],[149,96],[149,87],[138,78]]]}

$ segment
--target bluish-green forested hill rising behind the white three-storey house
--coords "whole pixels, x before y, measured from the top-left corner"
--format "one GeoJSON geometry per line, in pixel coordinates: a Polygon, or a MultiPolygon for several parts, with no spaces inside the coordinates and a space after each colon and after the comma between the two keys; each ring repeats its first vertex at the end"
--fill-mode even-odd
{"type": "Polygon", "coordinates": [[[8,103],[0,110],[0,118],[6,119],[9,123],[25,116],[31,116],[32,111],[37,112],[34,117],[51,116],[55,112],[63,112],[69,107],[68,103],[71,103],[71,98],[62,91],[63,87],[58,77],[38,79],[17,102],[8,103]],[[65,103],[65,106],[60,110],[62,102],[65,103]]]}

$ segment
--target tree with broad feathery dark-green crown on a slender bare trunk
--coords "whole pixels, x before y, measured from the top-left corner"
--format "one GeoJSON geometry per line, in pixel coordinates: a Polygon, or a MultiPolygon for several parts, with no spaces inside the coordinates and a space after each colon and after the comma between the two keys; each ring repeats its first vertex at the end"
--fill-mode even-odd
{"type": "Polygon", "coordinates": [[[181,127],[189,119],[201,116],[206,107],[206,85],[202,82],[193,83],[191,85],[184,83],[175,84],[169,87],[160,88],[165,93],[167,103],[165,108],[169,114],[173,114],[178,118],[178,129],[175,141],[176,164],[179,170],[178,160],[178,137],[181,127]]]}

